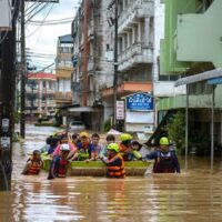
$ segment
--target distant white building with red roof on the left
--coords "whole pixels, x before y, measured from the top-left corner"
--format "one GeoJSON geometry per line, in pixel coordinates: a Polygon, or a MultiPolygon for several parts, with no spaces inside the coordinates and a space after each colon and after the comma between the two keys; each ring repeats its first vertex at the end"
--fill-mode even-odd
{"type": "Polygon", "coordinates": [[[52,73],[29,73],[26,87],[27,115],[38,118],[50,115],[56,108],[56,75],[52,73]]]}

